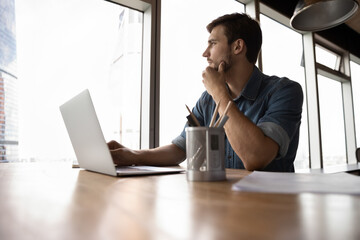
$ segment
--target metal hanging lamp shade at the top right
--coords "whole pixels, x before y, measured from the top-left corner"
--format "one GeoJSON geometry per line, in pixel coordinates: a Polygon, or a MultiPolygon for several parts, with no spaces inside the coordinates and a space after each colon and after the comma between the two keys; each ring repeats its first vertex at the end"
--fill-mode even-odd
{"type": "Polygon", "coordinates": [[[290,24],[300,31],[321,31],[345,22],[357,9],[355,0],[299,0],[290,24]]]}

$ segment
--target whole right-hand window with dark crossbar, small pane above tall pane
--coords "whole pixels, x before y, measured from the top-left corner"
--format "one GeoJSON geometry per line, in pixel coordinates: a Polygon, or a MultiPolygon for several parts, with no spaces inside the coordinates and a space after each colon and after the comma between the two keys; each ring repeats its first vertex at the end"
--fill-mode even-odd
{"type": "Polygon", "coordinates": [[[355,123],[348,53],[315,36],[323,167],[352,164],[355,123]]]}

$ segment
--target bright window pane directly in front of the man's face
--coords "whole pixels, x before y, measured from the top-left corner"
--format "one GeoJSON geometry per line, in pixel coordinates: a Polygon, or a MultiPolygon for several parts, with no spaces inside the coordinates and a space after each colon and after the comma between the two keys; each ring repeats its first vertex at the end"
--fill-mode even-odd
{"type": "Polygon", "coordinates": [[[234,0],[162,0],[160,72],[160,145],[178,136],[186,122],[187,104],[192,108],[205,91],[202,57],[209,33],[206,25],[215,18],[244,12],[234,0]],[[191,17],[184,17],[191,16],[191,17]]]}

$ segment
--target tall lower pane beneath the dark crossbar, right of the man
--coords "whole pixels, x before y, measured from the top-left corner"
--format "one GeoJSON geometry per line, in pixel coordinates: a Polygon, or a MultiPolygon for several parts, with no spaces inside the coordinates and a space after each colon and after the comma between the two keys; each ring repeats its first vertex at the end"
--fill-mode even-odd
{"type": "Polygon", "coordinates": [[[323,166],[346,164],[341,82],[318,75],[323,166]]]}

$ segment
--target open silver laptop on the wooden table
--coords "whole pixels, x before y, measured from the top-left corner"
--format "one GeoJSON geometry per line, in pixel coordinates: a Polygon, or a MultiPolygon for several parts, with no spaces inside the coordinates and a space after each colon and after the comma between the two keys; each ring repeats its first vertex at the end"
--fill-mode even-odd
{"type": "Polygon", "coordinates": [[[128,166],[113,163],[88,89],[60,106],[79,167],[112,176],[183,172],[181,168],[128,166]]]}

